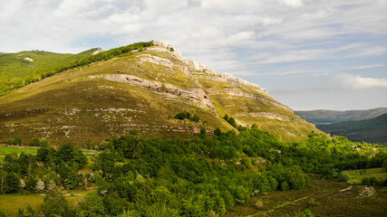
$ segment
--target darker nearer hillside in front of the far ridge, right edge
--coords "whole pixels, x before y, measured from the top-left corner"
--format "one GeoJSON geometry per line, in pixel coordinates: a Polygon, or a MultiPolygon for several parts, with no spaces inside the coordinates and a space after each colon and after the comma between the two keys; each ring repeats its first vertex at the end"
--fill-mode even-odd
{"type": "Polygon", "coordinates": [[[355,142],[387,144],[387,114],[357,121],[316,125],[325,133],[348,137],[355,142]]]}

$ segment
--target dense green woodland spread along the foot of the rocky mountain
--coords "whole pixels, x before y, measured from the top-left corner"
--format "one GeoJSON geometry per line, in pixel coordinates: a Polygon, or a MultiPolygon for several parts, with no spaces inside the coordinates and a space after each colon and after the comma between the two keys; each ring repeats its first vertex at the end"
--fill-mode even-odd
{"type": "Polygon", "coordinates": [[[185,141],[121,137],[89,165],[71,144],[44,144],[36,156],[5,156],[1,192],[48,193],[39,212],[28,208],[19,216],[216,216],[258,193],[302,189],[309,173],[345,180],[344,169],[386,165],[385,147],[345,137],[313,133],[286,144],[256,126],[238,130],[202,130],[185,141]],[[59,192],[90,187],[95,191],[76,207],[59,192]]]}

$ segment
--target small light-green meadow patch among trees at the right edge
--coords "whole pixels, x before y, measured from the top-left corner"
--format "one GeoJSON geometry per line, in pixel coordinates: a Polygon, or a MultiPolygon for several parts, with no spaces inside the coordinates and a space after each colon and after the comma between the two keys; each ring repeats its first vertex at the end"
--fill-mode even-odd
{"type": "Polygon", "coordinates": [[[366,170],[346,170],[343,171],[350,175],[349,184],[361,184],[364,177],[374,177],[378,180],[387,179],[387,172],[383,168],[372,168],[366,170]]]}

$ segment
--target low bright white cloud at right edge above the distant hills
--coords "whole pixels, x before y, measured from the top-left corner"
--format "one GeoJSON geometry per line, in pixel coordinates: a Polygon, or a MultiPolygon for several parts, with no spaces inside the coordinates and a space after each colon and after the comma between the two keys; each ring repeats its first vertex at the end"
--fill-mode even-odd
{"type": "Polygon", "coordinates": [[[331,79],[334,87],[341,89],[387,88],[387,79],[364,78],[359,75],[340,73],[331,79]]]}

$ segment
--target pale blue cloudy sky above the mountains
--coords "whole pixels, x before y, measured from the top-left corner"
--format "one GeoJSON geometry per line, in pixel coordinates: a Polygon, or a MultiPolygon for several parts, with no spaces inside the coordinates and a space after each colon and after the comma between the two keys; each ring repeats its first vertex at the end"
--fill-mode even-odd
{"type": "Polygon", "coordinates": [[[0,52],[165,40],[294,110],[387,107],[387,0],[0,0],[0,52]]]}

